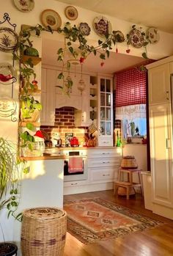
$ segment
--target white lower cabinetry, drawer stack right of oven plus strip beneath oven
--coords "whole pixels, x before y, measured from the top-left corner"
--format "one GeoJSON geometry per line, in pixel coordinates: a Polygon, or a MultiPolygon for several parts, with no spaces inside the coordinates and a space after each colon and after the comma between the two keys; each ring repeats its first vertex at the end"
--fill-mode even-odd
{"type": "Polygon", "coordinates": [[[64,183],[64,194],[78,194],[113,189],[122,159],[122,149],[93,147],[87,149],[87,179],[64,183]]]}

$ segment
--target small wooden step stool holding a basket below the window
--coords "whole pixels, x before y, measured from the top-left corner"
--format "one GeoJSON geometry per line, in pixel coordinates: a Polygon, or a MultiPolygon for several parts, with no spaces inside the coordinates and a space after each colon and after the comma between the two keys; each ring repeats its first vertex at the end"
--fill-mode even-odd
{"type": "Polygon", "coordinates": [[[116,193],[118,187],[126,189],[126,198],[129,200],[130,189],[135,187],[140,187],[141,195],[143,196],[143,188],[141,183],[141,169],[122,169],[119,168],[118,180],[114,182],[114,194],[116,193]],[[123,180],[123,174],[127,173],[128,181],[123,180]],[[133,173],[137,173],[139,177],[139,183],[133,182],[133,173]],[[121,177],[122,176],[122,177],[121,177]]]}

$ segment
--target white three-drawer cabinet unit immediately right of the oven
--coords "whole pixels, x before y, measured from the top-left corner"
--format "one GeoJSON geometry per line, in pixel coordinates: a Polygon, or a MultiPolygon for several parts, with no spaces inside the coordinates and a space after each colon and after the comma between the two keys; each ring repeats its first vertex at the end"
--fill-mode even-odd
{"type": "Polygon", "coordinates": [[[117,180],[121,159],[120,148],[89,149],[88,175],[90,183],[108,183],[117,180]]]}

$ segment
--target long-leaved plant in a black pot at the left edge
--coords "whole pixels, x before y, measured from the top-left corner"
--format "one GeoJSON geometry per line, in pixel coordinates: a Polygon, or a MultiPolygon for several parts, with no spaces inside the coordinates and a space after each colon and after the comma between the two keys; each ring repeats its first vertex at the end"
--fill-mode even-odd
{"type": "MultiPolygon", "coordinates": [[[[15,145],[0,137],[0,213],[2,209],[7,208],[7,216],[14,216],[18,220],[21,220],[21,213],[15,216],[15,211],[18,208],[22,169],[23,160],[18,157],[15,145]]],[[[24,171],[27,172],[28,168],[24,171]]],[[[15,244],[5,241],[0,243],[1,256],[17,255],[17,250],[15,244]]]]}

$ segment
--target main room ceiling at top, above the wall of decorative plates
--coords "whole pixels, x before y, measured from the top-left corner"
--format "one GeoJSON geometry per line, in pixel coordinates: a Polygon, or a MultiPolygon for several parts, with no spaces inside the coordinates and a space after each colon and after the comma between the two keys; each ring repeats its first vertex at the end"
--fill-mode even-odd
{"type": "Polygon", "coordinates": [[[58,0],[173,34],[172,0],[58,0]]]}

